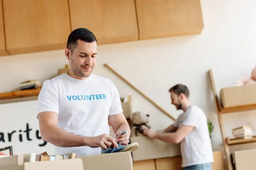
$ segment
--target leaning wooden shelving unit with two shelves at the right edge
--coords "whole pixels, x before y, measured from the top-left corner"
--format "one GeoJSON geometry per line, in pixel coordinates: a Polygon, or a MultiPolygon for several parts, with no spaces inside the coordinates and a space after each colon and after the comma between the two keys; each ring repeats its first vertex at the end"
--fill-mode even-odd
{"type": "Polygon", "coordinates": [[[256,104],[255,105],[247,105],[247,106],[241,106],[241,107],[233,107],[233,108],[223,108],[221,106],[221,103],[218,99],[216,88],[215,88],[215,82],[213,79],[213,74],[212,70],[210,69],[208,71],[209,74],[209,79],[211,82],[211,87],[212,87],[212,93],[214,96],[215,100],[215,105],[218,111],[218,121],[221,129],[221,136],[222,136],[222,141],[224,145],[224,153],[226,156],[226,161],[227,161],[227,170],[233,170],[232,163],[231,163],[231,158],[230,158],[230,149],[229,146],[232,145],[238,145],[238,144],[247,144],[247,143],[253,143],[256,142],[256,137],[253,137],[252,139],[230,139],[229,137],[226,137],[225,135],[225,130],[224,130],[224,123],[222,120],[222,114],[227,114],[227,113],[235,113],[235,112],[241,112],[241,111],[250,111],[250,110],[256,110],[256,104]]]}

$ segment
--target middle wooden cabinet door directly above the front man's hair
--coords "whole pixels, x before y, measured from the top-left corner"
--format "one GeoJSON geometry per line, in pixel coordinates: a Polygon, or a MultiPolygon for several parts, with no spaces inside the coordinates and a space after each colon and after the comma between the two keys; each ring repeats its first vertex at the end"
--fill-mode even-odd
{"type": "Polygon", "coordinates": [[[138,40],[134,0],[69,0],[72,30],[87,28],[98,44],[138,40]]]}

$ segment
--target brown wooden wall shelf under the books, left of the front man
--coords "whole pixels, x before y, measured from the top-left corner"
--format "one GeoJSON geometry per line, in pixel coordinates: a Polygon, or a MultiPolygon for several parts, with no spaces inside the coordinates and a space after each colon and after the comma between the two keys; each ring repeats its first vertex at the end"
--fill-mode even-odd
{"type": "Polygon", "coordinates": [[[40,91],[41,91],[41,88],[1,93],[0,100],[38,96],[40,91]]]}

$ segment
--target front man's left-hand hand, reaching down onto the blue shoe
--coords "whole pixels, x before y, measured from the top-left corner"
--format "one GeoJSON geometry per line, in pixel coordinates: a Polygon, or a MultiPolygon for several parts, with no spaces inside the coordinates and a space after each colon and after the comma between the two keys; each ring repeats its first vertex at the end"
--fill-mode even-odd
{"type": "Polygon", "coordinates": [[[118,147],[115,139],[107,134],[95,136],[95,137],[88,137],[87,138],[87,146],[89,147],[102,147],[103,149],[107,149],[109,147],[118,147]]]}

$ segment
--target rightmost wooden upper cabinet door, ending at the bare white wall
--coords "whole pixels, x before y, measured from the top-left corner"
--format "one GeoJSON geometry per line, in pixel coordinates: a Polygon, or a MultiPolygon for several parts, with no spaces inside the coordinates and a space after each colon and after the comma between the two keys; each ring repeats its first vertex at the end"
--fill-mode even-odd
{"type": "Polygon", "coordinates": [[[204,28],[200,0],[135,0],[139,39],[200,34],[204,28]]]}

